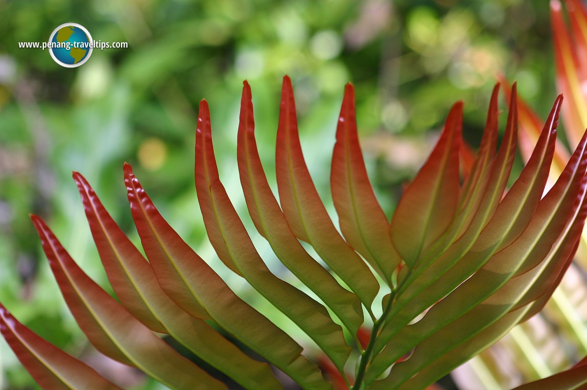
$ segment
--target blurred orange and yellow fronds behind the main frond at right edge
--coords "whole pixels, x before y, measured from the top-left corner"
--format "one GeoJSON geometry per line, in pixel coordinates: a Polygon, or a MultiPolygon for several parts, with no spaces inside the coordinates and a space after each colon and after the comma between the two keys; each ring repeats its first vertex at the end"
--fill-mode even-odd
{"type": "MultiPolygon", "coordinates": [[[[550,3],[556,84],[565,95],[561,116],[566,143],[557,140],[555,144],[547,188],[555,183],[569,159],[571,153],[566,144],[575,147],[587,127],[587,90],[582,88],[587,81],[587,10],[579,0],[566,0],[565,5],[563,7],[558,0],[550,3]]],[[[527,162],[540,135],[541,120],[521,97],[518,97],[518,107],[518,142],[522,157],[527,162]]],[[[517,376],[514,380],[551,375],[585,354],[587,317],[581,302],[585,300],[587,291],[587,283],[582,277],[587,269],[586,244],[587,230],[584,230],[575,261],[541,315],[515,329],[507,338],[485,351],[480,359],[468,364],[467,368],[461,368],[462,371],[479,373],[477,376],[483,378],[481,382],[485,387],[491,387],[490,384],[504,386],[512,381],[512,372],[517,376]],[[528,348],[528,345],[534,347],[528,348]],[[555,353],[551,352],[553,349],[555,353]]],[[[457,379],[457,382],[471,382],[471,378],[463,375],[462,381],[457,379]]],[[[481,384],[473,386],[475,389],[480,387],[481,384]]]]}

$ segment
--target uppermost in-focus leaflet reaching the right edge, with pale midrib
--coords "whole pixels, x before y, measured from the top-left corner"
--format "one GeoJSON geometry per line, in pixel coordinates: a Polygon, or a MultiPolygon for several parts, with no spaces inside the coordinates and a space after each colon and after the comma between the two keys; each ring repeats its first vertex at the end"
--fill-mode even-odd
{"type": "Polygon", "coordinates": [[[387,361],[418,346],[409,362],[398,365],[394,380],[409,378],[434,358],[456,347],[460,343],[456,336],[465,341],[497,321],[548,268],[556,250],[561,245],[566,247],[562,243],[574,246],[576,237],[569,238],[569,231],[573,226],[582,226],[584,221],[578,218],[585,195],[584,153],[585,139],[555,186],[539,203],[531,223],[518,240],[492,256],[479,271],[434,305],[423,320],[396,334],[386,350],[396,353],[384,351],[380,355],[390,355],[384,358],[387,361]],[[423,339],[426,341],[420,342],[423,339]],[[420,365],[416,364],[418,361],[420,365]]]}

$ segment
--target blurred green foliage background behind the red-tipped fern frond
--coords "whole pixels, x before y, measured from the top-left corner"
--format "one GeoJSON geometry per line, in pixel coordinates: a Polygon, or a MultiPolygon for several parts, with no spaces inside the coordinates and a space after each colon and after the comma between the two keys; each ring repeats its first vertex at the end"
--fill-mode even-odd
{"type": "MultiPolygon", "coordinates": [[[[241,297],[284,322],[207,243],[193,183],[200,99],[211,106],[221,179],[252,226],[236,169],[244,79],[274,183],[281,78],[291,76],[306,162],[326,204],[336,118],[344,85],[353,82],[363,152],[388,216],[454,102],[465,102],[464,135],[475,147],[497,75],[517,79],[520,95],[543,118],[556,96],[548,2],[0,0],[0,21],[0,301],[59,347],[100,369],[120,370],[127,388],[160,387],[103,361],[87,345],[28,218],[45,218],[109,290],[72,170],[85,175],[138,241],[122,181],[122,164],[131,163],[181,236],[241,297]],[[46,41],[64,22],[129,48],[95,49],[74,69],[57,65],[47,51],[18,48],[19,41],[46,41]]],[[[256,231],[249,232],[269,267],[284,274],[256,231]]],[[[36,388],[3,339],[0,368],[0,388],[36,388]]]]}

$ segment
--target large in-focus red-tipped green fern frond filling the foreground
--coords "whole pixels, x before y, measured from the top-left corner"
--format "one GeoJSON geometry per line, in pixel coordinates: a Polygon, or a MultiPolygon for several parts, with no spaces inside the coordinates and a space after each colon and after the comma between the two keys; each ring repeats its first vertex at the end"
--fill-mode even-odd
{"type": "MultiPolygon", "coordinates": [[[[255,250],[220,181],[208,104],[200,103],[195,187],[211,244],[228,268],[308,335],[327,357],[320,359],[322,371],[312,362],[312,348],[303,355],[298,342],[242,301],[191,250],[157,211],[129,164],[124,164],[124,182],[148,261],[86,179],[73,173],[120,303],[76,265],[40,217],[32,216],[32,221],[63,297],[89,341],[104,355],[170,388],[226,386],[157,334],[168,334],[248,389],[281,388],[272,367],[305,389],[332,388],[324,375],[342,388],[424,388],[541,310],[572,261],[587,213],[586,136],[542,197],[562,96],[528,163],[504,195],[517,149],[518,112],[514,85],[497,150],[498,89],[466,177],[461,180],[459,173],[459,102],[389,223],[367,178],[354,91],[347,85],[330,176],[341,236],[302,155],[291,80],[284,78],[277,133],[279,203],[259,159],[251,90],[244,83],[237,157],[249,214],[279,260],[318,299],[277,278],[255,250]],[[376,300],[380,290],[387,294],[376,300]],[[245,354],[227,334],[259,359],[245,354]],[[365,334],[369,338],[362,344],[365,334]]],[[[43,388],[79,389],[90,383],[96,389],[117,388],[36,336],[1,305],[0,330],[43,388]]],[[[563,379],[554,376],[530,386],[545,388],[555,381],[558,388],[576,388],[587,384],[584,368],[579,364],[563,379]]]]}

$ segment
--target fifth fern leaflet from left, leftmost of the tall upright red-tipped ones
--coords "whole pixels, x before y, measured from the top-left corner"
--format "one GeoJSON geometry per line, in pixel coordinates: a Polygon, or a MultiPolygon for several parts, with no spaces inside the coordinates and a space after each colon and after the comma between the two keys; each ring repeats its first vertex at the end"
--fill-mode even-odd
{"type": "MultiPolygon", "coordinates": [[[[224,263],[234,264],[239,274],[306,332],[343,374],[350,347],[346,344],[342,328],[332,321],[322,304],[269,271],[218,176],[206,102],[200,105],[199,118],[195,141],[195,186],[210,243],[221,258],[228,256],[224,263]]],[[[251,89],[246,82],[239,127],[244,126],[254,127],[251,89]]]]}

